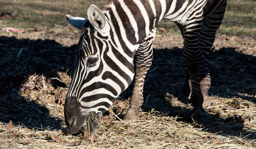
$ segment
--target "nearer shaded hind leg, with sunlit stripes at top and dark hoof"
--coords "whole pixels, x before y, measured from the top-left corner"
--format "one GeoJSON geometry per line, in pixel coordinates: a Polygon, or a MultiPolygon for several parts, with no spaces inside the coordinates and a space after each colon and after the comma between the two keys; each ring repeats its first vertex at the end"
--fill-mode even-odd
{"type": "Polygon", "coordinates": [[[199,123],[206,123],[208,119],[207,113],[202,107],[204,98],[200,86],[201,76],[199,75],[200,68],[203,65],[199,44],[202,22],[203,17],[201,12],[187,20],[185,24],[182,24],[184,38],[183,62],[189,76],[186,85],[191,85],[190,100],[194,107],[191,117],[199,123]]]}

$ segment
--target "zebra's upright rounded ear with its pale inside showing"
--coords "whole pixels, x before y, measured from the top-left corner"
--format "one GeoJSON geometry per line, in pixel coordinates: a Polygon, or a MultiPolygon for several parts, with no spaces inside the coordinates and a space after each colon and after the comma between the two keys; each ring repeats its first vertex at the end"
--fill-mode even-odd
{"type": "Polygon", "coordinates": [[[94,28],[99,32],[105,32],[108,27],[106,17],[103,12],[95,5],[91,5],[87,12],[88,19],[93,24],[94,28]]]}

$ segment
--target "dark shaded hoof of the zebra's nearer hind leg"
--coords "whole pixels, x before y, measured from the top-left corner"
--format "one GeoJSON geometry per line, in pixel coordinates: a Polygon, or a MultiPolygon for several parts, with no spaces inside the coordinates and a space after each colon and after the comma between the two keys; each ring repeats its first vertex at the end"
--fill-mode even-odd
{"type": "Polygon", "coordinates": [[[208,123],[208,114],[205,112],[203,107],[195,107],[191,117],[196,123],[199,123],[199,124],[208,123]]]}

